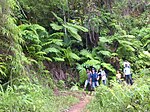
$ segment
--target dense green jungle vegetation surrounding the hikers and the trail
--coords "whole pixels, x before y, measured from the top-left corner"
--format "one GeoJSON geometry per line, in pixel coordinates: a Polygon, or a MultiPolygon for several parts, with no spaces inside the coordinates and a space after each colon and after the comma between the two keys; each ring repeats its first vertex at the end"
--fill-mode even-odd
{"type": "Polygon", "coordinates": [[[76,99],[53,89],[82,87],[89,66],[113,79],[125,59],[135,85],[98,88],[91,105],[148,110],[149,10],[148,0],[0,0],[0,111],[61,111],[76,99]]]}

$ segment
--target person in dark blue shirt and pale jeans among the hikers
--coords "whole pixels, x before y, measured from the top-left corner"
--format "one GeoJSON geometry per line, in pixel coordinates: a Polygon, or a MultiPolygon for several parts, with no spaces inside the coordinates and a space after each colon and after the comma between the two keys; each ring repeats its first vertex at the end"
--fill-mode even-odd
{"type": "Polygon", "coordinates": [[[92,68],[92,74],[91,74],[90,82],[91,82],[91,85],[92,85],[93,89],[96,86],[99,86],[99,83],[98,83],[98,74],[97,74],[95,68],[92,68]]]}

